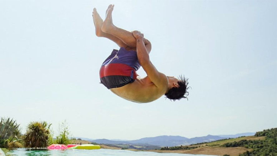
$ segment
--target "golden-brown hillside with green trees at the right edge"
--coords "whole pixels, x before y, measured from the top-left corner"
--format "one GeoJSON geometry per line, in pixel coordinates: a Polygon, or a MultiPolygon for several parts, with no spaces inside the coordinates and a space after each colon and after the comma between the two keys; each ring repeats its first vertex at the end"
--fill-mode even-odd
{"type": "Polygon", "coordinates": [[[272,155],[277,156],[277,128],[256,132],[254,136],[222,139],[189,146],[165,147],[148,150],[159,153],[184,153],[208,155],[272,155]]]}

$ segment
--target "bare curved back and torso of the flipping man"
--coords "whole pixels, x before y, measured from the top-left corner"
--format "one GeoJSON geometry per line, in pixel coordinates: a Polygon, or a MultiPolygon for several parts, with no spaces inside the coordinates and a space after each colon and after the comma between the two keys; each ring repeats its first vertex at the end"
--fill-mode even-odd
{"type": "Polygon", "coordinates": [[[147,103],[157,100],[166,92],[166,88],[158,88],[148,76],[145,78],[137,77],[133,83],[110,90],[126,100],[137,103],[147,103]]]}

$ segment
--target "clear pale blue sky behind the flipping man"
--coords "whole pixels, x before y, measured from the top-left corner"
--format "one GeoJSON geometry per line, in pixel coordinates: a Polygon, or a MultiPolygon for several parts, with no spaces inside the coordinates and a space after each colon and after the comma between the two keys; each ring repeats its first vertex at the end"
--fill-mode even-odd
{"type": "MultiPolygon", "coordinates": [[[[188,138],[277,127],[277,1],[0,1],[0,116],[58,125],[75,137],[188,138]],[[189,78],[189,100],[137,104],[99,84],[117,45],[92,10],[139,30],[150,60],[189,78]]],[[[138,74],[146,76],[142,68],[138,74]]]]}

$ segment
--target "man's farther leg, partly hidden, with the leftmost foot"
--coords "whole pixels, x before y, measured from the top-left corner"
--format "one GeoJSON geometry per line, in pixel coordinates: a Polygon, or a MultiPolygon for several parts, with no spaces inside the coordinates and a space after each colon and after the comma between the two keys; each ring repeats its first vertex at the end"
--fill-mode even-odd
{"type": "MultiPolygon", "coordinates": [[[[103,24],[103,20],[102,18],[99,16],[96,8],[93,9],[93,14],[92,14],[92,17],[93,17],[93,23],[94,23],[94,26],[95,26],[95,33],[96,33],[96,36],[98,37],[105,37],[105,38],[108,38],[112,41],[114,41],[118,46],[120,47],[124,47],[124,48],[127,48],[128,46],[123,42],[121,41],[119,38],[111,35],[111,34],[108,34],[108,33],[105,33],[105,32],[102,32],[101,30],[101,27],[102,27],[102,24],[103,24]]],[[[133,36],[132,36],[133,37],[133,36]]],[[[128,49],[128,48],[127,48],[128,49]]]]}

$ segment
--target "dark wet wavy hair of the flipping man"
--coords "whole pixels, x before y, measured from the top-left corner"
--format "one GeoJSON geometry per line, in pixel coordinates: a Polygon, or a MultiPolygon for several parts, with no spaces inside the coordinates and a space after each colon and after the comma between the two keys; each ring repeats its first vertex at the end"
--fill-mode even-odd
{"type": "Polygon", "coordinates": [[[173,87],[171,88],[167,93],[165,93],[165,98],[168,98],[173,101],[180,100],[182,98],[185,98],[188,100],[187,96],[189,95],[188,89],[191,87],[188,87],[188,80],[184,76],[180,75],[178,81],[179,87],[173,87]]]}

